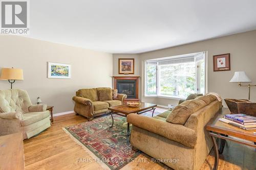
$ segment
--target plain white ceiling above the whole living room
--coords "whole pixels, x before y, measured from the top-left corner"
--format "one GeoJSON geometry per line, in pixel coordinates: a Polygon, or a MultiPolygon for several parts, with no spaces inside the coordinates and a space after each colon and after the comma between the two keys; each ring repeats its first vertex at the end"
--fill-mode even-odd
{"type": "Polygon", "coordinates": [[[255,0],[33,0],[28,37],[142,53],[256,29],[255,0]]]}

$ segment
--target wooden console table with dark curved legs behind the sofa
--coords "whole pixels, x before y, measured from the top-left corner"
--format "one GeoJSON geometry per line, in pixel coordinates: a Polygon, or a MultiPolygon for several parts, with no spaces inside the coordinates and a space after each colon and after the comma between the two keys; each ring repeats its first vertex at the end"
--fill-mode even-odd
{"type": "Polygon", "coordinates": [[[218,114],[214,118],[212,118],[210,122],[206,125],[206,130],[209,131],[212,143],[214,143],[214,170],[218,169],[219,153],[222,154],[223,152],[225,140],[231,140],[233,142],[245,144],[248,145],[249,147],[256,148],[256,135],[253,134],[253,132],[256,132],[256,130],[246,131],[219,121],[219,118],[222,118],[225,114],[230,114],[228,108],[222,108],[221,110],[219,110],[218,114]],[[221,139],[220,150],[218,150],[218,145],[215,138],[221,139]]]}

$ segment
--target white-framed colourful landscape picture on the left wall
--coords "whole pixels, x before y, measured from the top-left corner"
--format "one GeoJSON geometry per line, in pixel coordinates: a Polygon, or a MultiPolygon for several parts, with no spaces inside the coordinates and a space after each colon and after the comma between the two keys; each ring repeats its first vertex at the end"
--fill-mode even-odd
{"type": "Polygon", "coordinates": [[[48,78],[70,79],[71,65],[48,62],[48,78]]]}

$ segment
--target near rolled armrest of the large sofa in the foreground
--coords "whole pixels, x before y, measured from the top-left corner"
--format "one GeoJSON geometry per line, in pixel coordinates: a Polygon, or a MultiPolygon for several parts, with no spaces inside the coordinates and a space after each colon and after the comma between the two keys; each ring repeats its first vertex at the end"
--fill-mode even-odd
{"type": "Polygon", "coordinates": [[[127,123],[144,130],[159,134],[170,140],[177,141],[189,148],[195,148],[197,142],[197,133],[183,125],[172,124],[152,117],[146,117],[138,114],[127,115],[127,123]]]}

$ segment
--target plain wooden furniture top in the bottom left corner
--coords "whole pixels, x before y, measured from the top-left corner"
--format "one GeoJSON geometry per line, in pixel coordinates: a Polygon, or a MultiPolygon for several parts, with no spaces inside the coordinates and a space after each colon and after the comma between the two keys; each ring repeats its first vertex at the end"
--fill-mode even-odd
{"type": "Polygon", "coordinates": [[[25,169],[21,132],[0,136],[0,170],[5,169],[25,169]]]}

